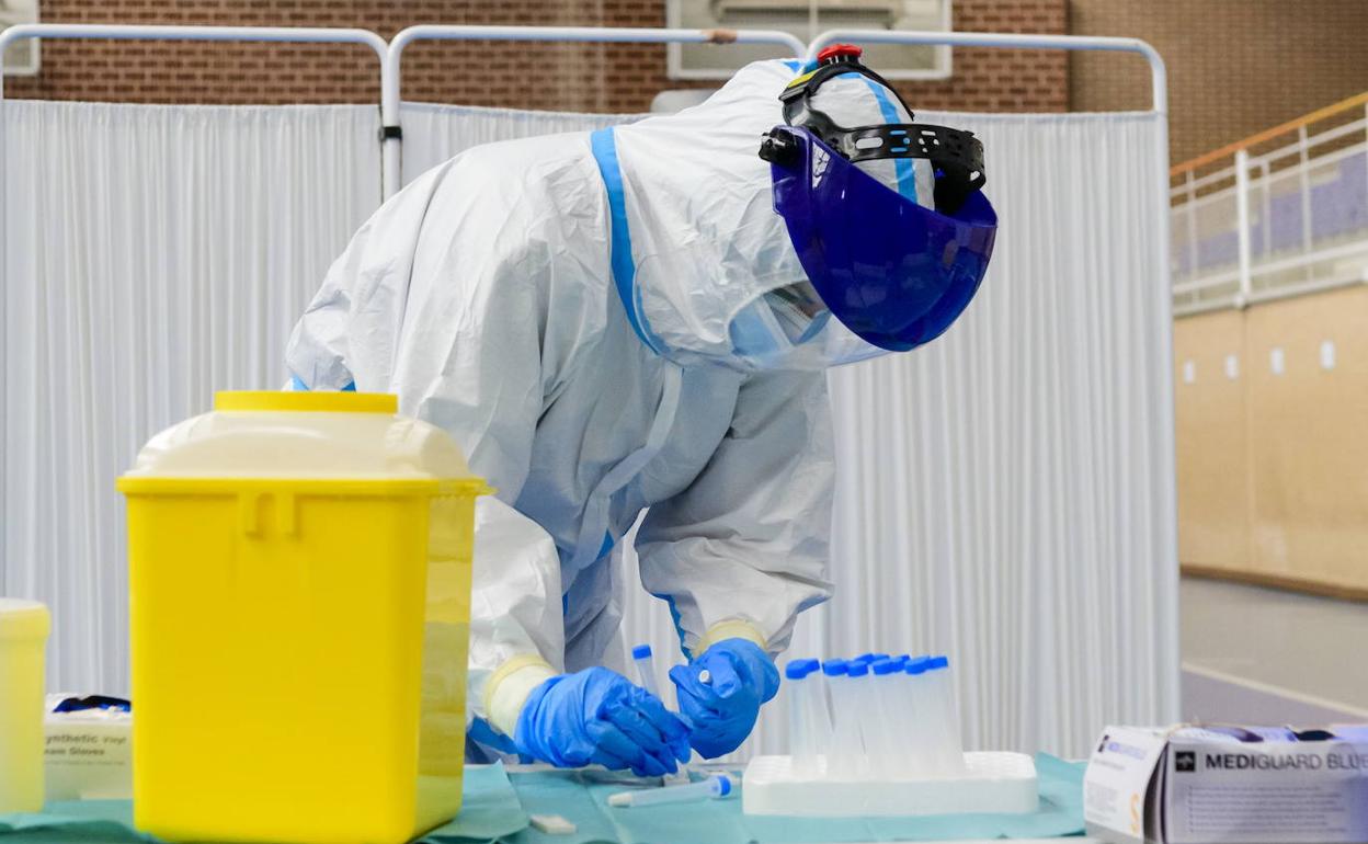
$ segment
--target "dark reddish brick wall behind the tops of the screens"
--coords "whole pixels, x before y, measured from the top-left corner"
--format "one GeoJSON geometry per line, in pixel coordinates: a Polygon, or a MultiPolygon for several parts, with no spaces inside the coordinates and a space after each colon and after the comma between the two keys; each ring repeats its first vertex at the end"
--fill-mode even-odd
{"type": "MultiPolygon", "coordinates": [[[[1067,0],[953,0],[958,30],[1063,33],[1067,0]]],[[[357,26],[391,37],[413,23],[665,26],[663,0],[42,0],[45,23],[357,26]]],[[[904,83],[915,108],[1064,111],[1060,53],[959,49],[953,78],[904,83]]],[[[405,51],[412,100],[643,111],[666,88],[714,86],[665,77],[659,45],[431,44],[405,51]],[[475,62],[479,64],[473,64],[475,62]],[[466,72],[466,68],[469,72],[466,72]]],[[[375,103],[378,68],[364,47],[47,41],[37,78],[7,96],[137,103],[375,103]]]]}

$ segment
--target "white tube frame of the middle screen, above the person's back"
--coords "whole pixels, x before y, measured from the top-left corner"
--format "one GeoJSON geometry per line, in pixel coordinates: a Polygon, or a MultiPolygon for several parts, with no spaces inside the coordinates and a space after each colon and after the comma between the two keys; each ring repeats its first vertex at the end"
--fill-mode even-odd
{"type": "Polygon", "coordinates": [[[644,29],[613,26],[465,26],[420,25],[399,30],[380,68],[380,122],[383,129],[384,198],[394,196],[402,179],[399,130],[399,82],[404,48],[415,41],[580,41],[586,44],[773,44],[795,57],[807,53],[795,36],[766,29],[644,29]],[[391,189],[391,185],[394,186],[391,189]]]}

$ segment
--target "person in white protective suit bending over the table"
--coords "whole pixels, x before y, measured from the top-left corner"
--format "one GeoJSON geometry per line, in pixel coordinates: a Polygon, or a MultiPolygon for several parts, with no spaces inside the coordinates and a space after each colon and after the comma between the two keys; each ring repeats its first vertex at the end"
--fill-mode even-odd
{"type": "Polygon", "coordinates": [[[824,371],[944,331],[996,224],[977,141],[929,127],[959,157],[907,153],[897,127],[917,124],[858,55],[758,62],[677,115],[469,149],[361,227],[295,327],[295,388],[397,393],[498,490],[476,510],[484,746],[642,774],[729,752],[795,618],[830,595],[824,371]],[[948,171],[967,211],[933,209],[948,171]],[[611,670],[613,551],[643,512],[642,583],[689,658],[679,715],[611,670]]]}

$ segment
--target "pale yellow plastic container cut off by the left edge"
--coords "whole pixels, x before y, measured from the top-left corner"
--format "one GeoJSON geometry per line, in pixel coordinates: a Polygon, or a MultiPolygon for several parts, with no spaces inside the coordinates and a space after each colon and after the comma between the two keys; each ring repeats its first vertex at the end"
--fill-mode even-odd
{"type": "Polygon", "coordinates": [[[42,811],[44,652],[37,601],[0,598],[0,814],[42,811]]]}

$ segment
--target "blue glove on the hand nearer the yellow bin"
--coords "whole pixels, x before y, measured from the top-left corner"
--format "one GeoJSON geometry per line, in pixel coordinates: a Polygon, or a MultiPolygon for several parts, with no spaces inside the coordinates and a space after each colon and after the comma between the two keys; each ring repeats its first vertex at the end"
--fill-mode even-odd
{"type": "Polygon", "coordinates": [[[688,761],[688,726],[665,704],[606,668],[551,677],[517,718],[518,752],[558,767],[598,763],[639,777],[674,773],[688,761]]]}

